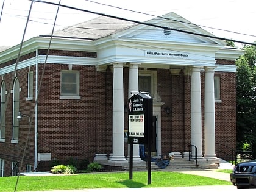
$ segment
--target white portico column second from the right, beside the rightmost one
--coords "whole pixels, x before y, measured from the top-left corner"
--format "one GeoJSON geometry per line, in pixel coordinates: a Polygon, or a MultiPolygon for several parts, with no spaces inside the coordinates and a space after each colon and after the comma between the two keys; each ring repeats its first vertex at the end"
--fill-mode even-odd
{"type": "Polygon", "coordinates": [[[200,67],[191,73],[191,144],[197,147],[197,158],[202,158],[202,112],[200,67]]]}

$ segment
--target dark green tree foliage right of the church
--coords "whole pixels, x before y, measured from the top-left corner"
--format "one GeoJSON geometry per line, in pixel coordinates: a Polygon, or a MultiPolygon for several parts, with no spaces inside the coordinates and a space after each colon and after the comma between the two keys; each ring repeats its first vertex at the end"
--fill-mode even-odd
{"type": "Polygon", "coordinates": [[[249,144],[256,155],[256,46],[244,46],[236,61],[236,139],[238,149],[249,144]]]}

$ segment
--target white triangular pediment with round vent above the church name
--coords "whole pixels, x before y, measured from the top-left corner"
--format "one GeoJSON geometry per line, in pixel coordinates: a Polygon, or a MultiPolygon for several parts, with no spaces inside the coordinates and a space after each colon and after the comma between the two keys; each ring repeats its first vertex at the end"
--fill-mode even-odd
{"type": "Polygon", "coordinates": [[[159,16],[145,23],[117,32],[112,37],[180,43],[226,44],[225,41],[216,38],[204,37],[205,35],[215,36],[174,12],[159,16]],[[202,36],[196,34],[202,34],[202,36]]]}

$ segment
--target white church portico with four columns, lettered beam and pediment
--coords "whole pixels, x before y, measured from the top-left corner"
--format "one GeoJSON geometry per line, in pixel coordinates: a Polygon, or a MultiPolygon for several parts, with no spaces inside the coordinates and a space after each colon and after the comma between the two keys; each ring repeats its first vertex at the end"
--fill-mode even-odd
{"type": "MultiPolygon", "coordinates": [[[[178,15],[165,15],[166,18],[174,16],[178,15]]],[[[165,24],[166,20],[158,18],[150,22],[165,24]]],[[[176,23],[175,27],[184,27],[184,23],[176,23]]],[[[203,29],[198,30],[208,34],[203,29]]],[[[127,129],[124,122],[124,93],[128,93],[129,98],[133,91],[147,91],[153,98],[153,115],[157,119],[157,157],[168,152],[183,154],[191,144],[197,148],[197,158],[215,160],[215,71],[234,71],[232,67],[216,64],[216,55],[222,58],[220,50],[226,42],[175,31],[167,34],[162,29],[152,30],[150,26],[137,25],[113,34],[104,43],[104,49],[98,52],[98,65],[113,67],[113,151],[108,160],[119,163],[127,161],[123,136],[124,129],[127,129]],[[169,74],[162,76],[165,70],[169,70],[169,74]],[[143,80],[140,81],[141,77],[143,80]],[[176,78],[183,80],[182,83],[176,78]],[[140,89],[143,81],[148,90],[140,89]],[[179,99],[182,103],[171,100],[171,94],[175,92],[182,97],[179,99]],[[164,107],[167,105],[179,107],[179,115],[172,108],[171,115],[166,115],[164,107]],[[176,124],[175,121],[181,123],[176,124]],[[174,138],[172,135],[175,135],[174,138]],[[182,141],[177,138],[180,135],[183,135],[182,141]],[[175,143],[171,140],[179,141],[182,146],[172,146],[175,143]]],[[[133,160],[140,160],[138,145],[133,146],[133,160]]]]}

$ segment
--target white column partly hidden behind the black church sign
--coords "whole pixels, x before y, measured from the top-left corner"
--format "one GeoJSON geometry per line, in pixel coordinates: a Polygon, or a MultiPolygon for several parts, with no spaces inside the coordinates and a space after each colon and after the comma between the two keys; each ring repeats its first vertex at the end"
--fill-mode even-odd
{"type": "MultiPolygon", "coordinates": [[[[138,64],[130,63],[129,65],[129,85],[128,98],[132,96],[131,92],[138,92],[138,64]]],[[[130,150],[128,150],[130,151],[130,150]]],[[[130,155],[130,154],[129,154],[130,155]]],[[[139,145],[133,144],[133,161],[141,160],[139,155],[139,145]]]]}

